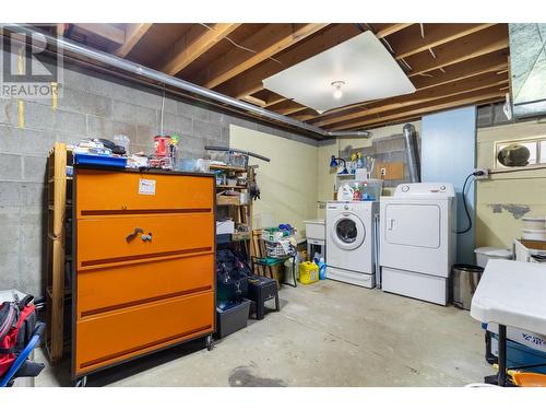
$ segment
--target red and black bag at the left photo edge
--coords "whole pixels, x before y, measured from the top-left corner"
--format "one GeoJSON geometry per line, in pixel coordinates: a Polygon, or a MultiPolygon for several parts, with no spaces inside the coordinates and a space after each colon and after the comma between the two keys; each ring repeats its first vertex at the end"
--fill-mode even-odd
{"type": "MultiPolygon", "coordinates": [[[[19,354],[31,339],[34,328],[33,324],[23,324],[34,314],[35,307],[31,304],[19,306],[15,303],[4,302],[2,305],[3,318],[0,321],[0,375],[3,375],[11,367],[19,354]],[[20,335],[20,330],[22,333],[20,335]]],[[[31,321],[35,321],[35,314],[31,321]]]]}

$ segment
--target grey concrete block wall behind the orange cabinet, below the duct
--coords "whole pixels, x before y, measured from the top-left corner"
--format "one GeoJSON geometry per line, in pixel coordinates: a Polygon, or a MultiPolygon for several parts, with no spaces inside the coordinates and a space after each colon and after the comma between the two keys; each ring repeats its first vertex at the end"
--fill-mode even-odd
{"type": "MultiPolygon", "coordinates": [[[[43,295],[46,271],[46,159],[56,141],[111,139],[122,133],[131,151],[153,152],[162,120],[162,92],[81,67],[66,66],[62,97],[24,101],[24,127],[15,99],[0,99],[0,289],[43,295]]],[[[207,109],[167,95],[164,133],[181,136],[181,157],[206,155],[207,144],[229,145],[229,125],[316,141],[268,125],[207,109]]],[[[266,155],[266,153],[263,153],[266,155]]]]}

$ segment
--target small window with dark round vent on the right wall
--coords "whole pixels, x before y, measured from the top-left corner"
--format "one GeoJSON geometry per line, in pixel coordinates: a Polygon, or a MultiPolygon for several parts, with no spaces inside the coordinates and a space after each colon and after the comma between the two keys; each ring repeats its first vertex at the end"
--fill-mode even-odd
{"type": "Polygon", "coordinates": [[[495,164],[497,168],[546,164],[546,137],[496,142],[495,164]]]}

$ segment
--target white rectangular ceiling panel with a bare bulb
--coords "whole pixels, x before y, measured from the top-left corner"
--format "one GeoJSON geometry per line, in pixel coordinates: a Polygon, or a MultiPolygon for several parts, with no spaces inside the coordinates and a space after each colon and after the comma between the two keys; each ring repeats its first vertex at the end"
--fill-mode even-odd
{"type": "Polygon", "coordinates": [[[319,113],[415,92],[371,32],[292,66],[263,80],[263,85],[319,113]]]}

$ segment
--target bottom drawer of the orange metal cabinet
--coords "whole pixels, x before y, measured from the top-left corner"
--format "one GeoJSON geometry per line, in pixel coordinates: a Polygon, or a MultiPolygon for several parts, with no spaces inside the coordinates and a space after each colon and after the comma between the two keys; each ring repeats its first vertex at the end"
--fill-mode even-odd
{"type": "Polygon", "coordinates": [[[75,373],[94,368],[212,332],[214,293],[97,315],[76,323],[75,373]]]}

